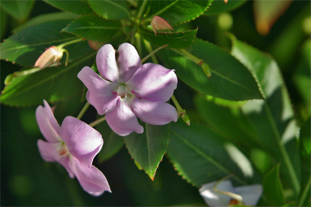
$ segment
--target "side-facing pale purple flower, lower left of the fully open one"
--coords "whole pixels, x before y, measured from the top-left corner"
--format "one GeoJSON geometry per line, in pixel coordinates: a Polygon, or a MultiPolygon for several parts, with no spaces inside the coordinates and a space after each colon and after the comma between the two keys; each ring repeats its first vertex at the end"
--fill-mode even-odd
{"type": "Polygon", "coordinates": [[[38,106],[36,118],[47,141],[37,141],[45,161],[58,161],[91,195],[100,196],[105,190],[111,192],[104,174],[92,165],[95,155],[102,149],[100,132],[75,117],[66,117],[59,126],[45,100],[44,107],[38,106]]]}

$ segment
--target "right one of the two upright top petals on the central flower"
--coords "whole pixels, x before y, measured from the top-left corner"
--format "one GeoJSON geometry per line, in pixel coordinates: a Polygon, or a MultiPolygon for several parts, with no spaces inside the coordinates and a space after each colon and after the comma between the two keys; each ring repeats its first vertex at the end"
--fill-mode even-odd
{"type": "Polygon", "coordinates": [[[122,43],[117,49],[120,82],[125,83],[133,77],[142,63],[137,50],[130,43],[122,43]]]}

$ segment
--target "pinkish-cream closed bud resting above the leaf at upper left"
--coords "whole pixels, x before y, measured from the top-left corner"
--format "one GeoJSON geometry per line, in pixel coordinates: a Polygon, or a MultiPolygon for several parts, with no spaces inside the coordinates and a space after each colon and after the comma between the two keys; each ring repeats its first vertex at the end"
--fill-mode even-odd
{"type": "Polygon", "coordinates": [[[62,59],[63,57],[63,53],[64,53],[64,49],[59,49],[56,46],[52,46],[46,49],[46,51],[44,51],[44,53],[40,55],[40,57],[37,59],[35,63],[35,67],[44,69],[44,68],[51,66],[52,64],[56,62],[58,65],[59,60],[62,59]]]}

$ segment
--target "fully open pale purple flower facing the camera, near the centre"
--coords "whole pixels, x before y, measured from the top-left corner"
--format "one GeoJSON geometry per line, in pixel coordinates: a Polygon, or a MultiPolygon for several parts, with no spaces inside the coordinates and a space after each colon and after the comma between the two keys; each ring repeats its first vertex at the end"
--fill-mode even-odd
{"type": "Polygon", "coordinates": [[[88,88],[88,102],[98,114],[106,114],[107,123],[118,135],[142,133],[144,128],[136,117],[153,125],[177,121],[176,109],[165,103],[177,87],[173,70],[155,63],[142,65],[130,43],[123,43],[117,51],[110,44],[102,46],[96,63],[102,77],[87,66],[78,77],[88,88]]]}

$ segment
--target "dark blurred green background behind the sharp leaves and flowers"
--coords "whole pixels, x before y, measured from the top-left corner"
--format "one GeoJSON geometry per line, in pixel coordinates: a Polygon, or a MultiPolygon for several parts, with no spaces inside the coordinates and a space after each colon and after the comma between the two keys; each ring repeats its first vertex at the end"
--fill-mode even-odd
{"type": "MultiPolygon", "coordinates": [[[[58,11],[44,1],[35,1],[29,19],[58,11]]],[[[198,38],[228,51],[230,42],[226,31],[270,53],[283,72],[296,119],[303,124],[310,116],[310,88],[305,88],[300,79],[308,78],[310,70],[310,57],[309,60],[303,57],[303,46],[310,39],[310,1],[292,1],[265,36],[256,31],[253,1],[220,15],[203,15],[184,27],[198,27],[198,38]],[[227,23],[225,28],[220,25],[221,18],[227,23]],[[228,23],[230,21],[232,24],[228,23]]],[[[1,8],[1,39],[9,37],[19,24],[1,8]]],[[[308,43],[310,48],[310,41],[308,43]]],[[[1,90],[6,75],[20,68],[1,60],[1,90]]],[[[178,83],[176,97],[189,114],[194,112],[191,100],[195,93],[183,83],[178,83]]],[[[77,116],[83,103],[72,103],[79,103],[79,99],[77,96],[62,101],[55,111],[59,124],[65,116],[77,116]],[[61,111],[66,111],[66,115],[59,113],[61,111]]],[[[82,190],[77,179],[68,177],[62,166],[41,159],[37,139],[43,137],[35,120],[36,108],[1,105],[1,206],[205,206],[198,188],[177,175],[167,157],[164,156],[155,180],[151,181],[144,171],[138,170],[126,148],[102,164],[95,159],[95,166],[102,170],[113,193],[91,197],[82,190]]],[[[87,114],[83,120],[90,123],[95,119],[95,110],[89,108],[87,114]]],[[[195,121],[196,117],[191,119],[195,121]]]]}

